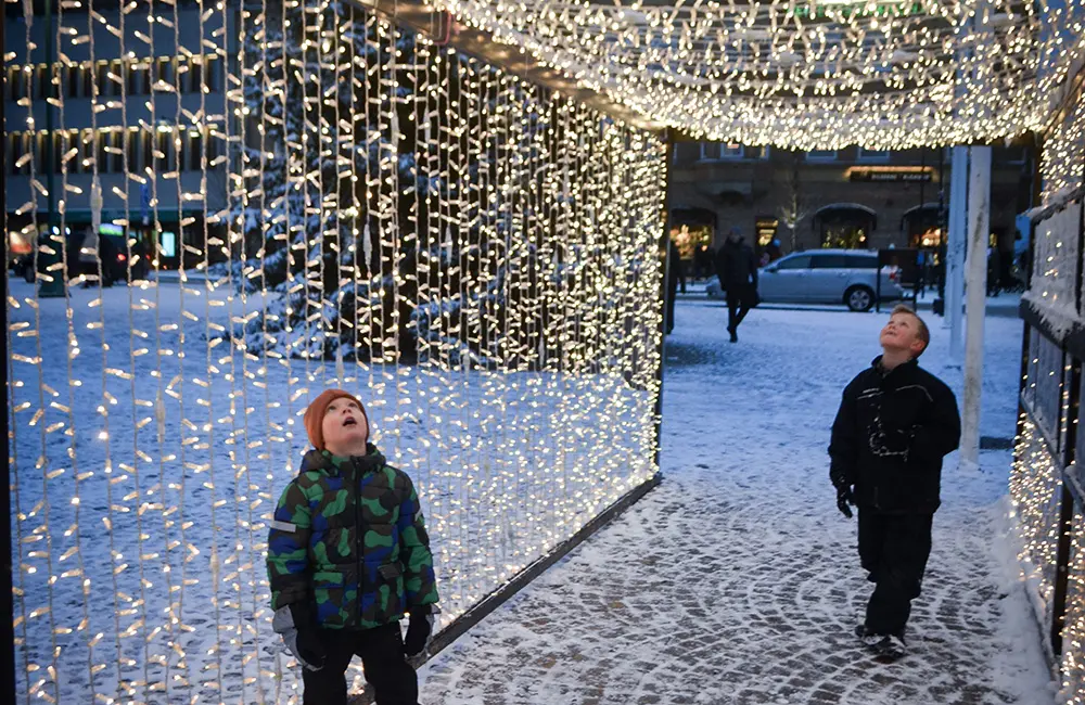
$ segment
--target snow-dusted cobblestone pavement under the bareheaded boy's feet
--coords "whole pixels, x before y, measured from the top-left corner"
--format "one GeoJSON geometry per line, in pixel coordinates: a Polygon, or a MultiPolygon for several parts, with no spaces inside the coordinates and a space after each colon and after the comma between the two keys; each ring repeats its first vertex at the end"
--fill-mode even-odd
{"type": "MultiPolygon", "coordinates": [[[[980,473],[947,459],[912,653],[880,665],[852,634],[870,585],[826,446],[886,316],[758,309],[729,345],[722,304],[677,309],[663,484],[427,664],[422,702],[1052,703],[1006,536],[1009,451],[980,473]]],[[[932,329],[923,363],[960,398],[932,329]]],[[[988,317],[983,436],[1013,435],[1020,337],[988,317]]]]}

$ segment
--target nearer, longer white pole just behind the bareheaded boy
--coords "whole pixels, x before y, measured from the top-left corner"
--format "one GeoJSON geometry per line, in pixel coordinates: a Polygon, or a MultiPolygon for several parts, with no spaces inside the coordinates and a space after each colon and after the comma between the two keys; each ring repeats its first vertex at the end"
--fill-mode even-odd
{"type": "Polygon", "coordinates": [[[991,236],[991,148],[973,146],[968,194],[968,320],[965,342],[965,414],[960,464],[980,466],[980,393],[983,388],[983,319],[987,307],[991,236]]]}

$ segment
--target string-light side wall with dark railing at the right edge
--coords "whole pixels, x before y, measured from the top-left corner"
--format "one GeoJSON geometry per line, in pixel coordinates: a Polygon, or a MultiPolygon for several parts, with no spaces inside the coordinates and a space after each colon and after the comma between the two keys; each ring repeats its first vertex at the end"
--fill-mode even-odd
{"type": "MultiPolygon", "coordinates": [[[[1067,48],[1065,56],[1044,59],[1047,76],[1058,85],[1051,94],[1059,110],[1050,111],[1043,126],[1042,204],[1033,214],[1031,278],[1022,296],[1042,325],[1029,331],[1026,366],[1021,392],[1021,432],[1011,469],[1010,498],[1020,539],[1023,577],[1039,617],[1042,633],[1049,634],[1062,617],[1058,634],[1060,691],[1057,702],[1085,702],[1085,514],[1080,485],[1082,436],[1081,389],[1073,389],[1074,367],[1081,361],[1070,343],[1082,326],[1085,300],[1078,298],[1082,258],[1082,197],[1085,172],[1085,100],[1080,76],[1081,5],[1069,3],[1058,13],[1060,22],[1048,28],[1050,49],[1067,48]],[[1077,400],[1073,399],[1077,393],[1077,400]],[[1073,448],[1073,454],[1068,452],[1073,448]],[[1069,466],[1064,466],[1070,462],[1069,466]],[[1069,523],[1064,522],[1069,518],[1069,523]],[[1060,541],[1069,555],[1060,555],[1060,541]],[[1064,573],[1062,573],[1064,571],[1064,573]],[[1058,584],[1065,579],[1060,603],[1058,584]]],[[[1080,384],[1080,381],[1078,381],[1080,384]]],[[[1045,639],[1045,643],[1047,643],[1045,639]]]]}

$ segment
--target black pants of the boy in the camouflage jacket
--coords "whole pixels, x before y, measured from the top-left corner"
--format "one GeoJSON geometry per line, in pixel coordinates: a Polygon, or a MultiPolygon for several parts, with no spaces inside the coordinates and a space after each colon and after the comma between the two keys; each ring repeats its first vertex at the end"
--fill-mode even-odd
{"type": "Polygon", "coordinates": [[[418,676],[404,656],[398,623],[362,631],[321,629],[320,641],[328,655],[320,670],[303,669],[304,705],[346,705],[346,668],[356,655],[376,705],[418,705],[418,676]]]}

